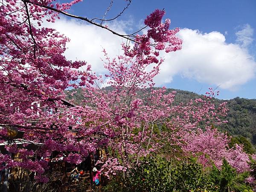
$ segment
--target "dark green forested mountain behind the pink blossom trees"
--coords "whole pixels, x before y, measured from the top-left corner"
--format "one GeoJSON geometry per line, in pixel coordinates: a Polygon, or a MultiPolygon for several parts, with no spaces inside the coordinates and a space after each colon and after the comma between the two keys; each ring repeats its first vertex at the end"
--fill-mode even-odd
{"type": "MultiPolygon", "coordinates": [[[[111,89],[108,87],[107,89],[111,89]]],[[[68,100],[73,99],[76,105],[82,105],[83,95],[81,89],[68,90],[67,98],[68,100]]],[[[166,93],[176,91],[175,104],[180,102],[188,102],[190,99],[202,98],[203,95],[198,95],[197,93],[177,90],[177,89],[166,89],[166,93]]],[[[140,93],[139,93],[140,94],[140,93]]],[[[218,127],[221,131],[228,132],[233,137],[236,143],[244,143],[249,140],[253,145],[256,145],[256,99],[244,99],[236,97],[230,100],[215,99],[215,104],[220,104],[222,102],[227,102],[227,108],[229,109],[226,124],[218,127]],[[245,138],[244,138],[245,137],[245,138]]]]}

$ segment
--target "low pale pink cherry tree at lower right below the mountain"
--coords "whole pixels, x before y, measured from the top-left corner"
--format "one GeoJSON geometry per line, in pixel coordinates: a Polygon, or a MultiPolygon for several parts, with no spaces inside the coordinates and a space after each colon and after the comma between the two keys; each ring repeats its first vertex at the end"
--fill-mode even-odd
{"type": "Polygon", "coordinates": [[[230,137],[219,132],[217,128],[208,126],[206,131],[199,128],[186,133],[183,142],[181,144],[183,151],[199,155],[198,160],[204,166],[211,166],[214,163],[221,168],[225,158],[239,173],[250,170],[250,159],[242,146],[236,144],[233,148],[229,148],[230,137]]]}

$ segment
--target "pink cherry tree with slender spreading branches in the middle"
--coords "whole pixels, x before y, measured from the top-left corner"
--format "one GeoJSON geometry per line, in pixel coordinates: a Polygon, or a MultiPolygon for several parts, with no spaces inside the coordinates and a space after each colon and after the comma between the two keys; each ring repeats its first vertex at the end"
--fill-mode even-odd
{"type": "Polygon", "coordinates": [[[92,131],[108,136],[108,146],[115,151],[110,157],[114,163],[107,163],[109,169],[116,167],[115,156],[120,157],[122,166],[117,171],[126,170],[134,161],[139,163],[140,157],[157,152],[166,144],[182,142],[182,136],[200,124],[225,122],[219,118],[226,115],[225,103],[217,107],[211,103],[213,90],[205,99],[174,105],[175,92],[166,94],[165,87],[154,88],[154,77],[163,63],[162,58],[157,58],[158,50],[176,51],[181,43],[174,36],[177,29],[166,30],[169,20],[161,23],[163,13],[157,10],[146,18],[145,24],[151,29],[147,35],[137,35],[132,49],[123,45],[124,55],[109,58],[104,50],[105,68],[110,73],[99,76],[93,88],[84,88],[81,124],[90,122],[92,131]]]}

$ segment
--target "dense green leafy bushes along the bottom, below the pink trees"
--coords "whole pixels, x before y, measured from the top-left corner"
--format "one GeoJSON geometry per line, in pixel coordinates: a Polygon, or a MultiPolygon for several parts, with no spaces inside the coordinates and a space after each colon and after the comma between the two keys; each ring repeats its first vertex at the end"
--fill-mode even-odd
{"type": "Polygon", "coordinates": [[[194,157],[166,160],[158,156],[144,158],[125,179],[120,175],[113,177],[104,189],[113,192],[243,192],[252,189],[245,181],[248,175],[250,172],[236,173],[225,159],[221,169],[214,165],[204,169],[194,157]]]}

